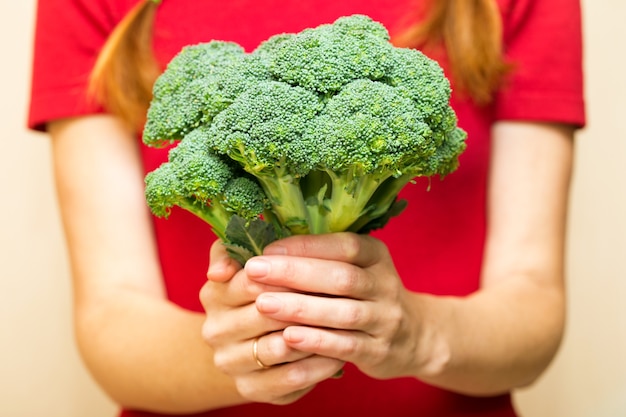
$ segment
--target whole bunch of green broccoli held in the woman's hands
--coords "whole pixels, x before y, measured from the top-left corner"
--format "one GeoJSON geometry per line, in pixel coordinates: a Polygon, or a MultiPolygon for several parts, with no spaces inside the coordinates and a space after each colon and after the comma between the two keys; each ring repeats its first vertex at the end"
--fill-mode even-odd
{"type": "Polygon", "coordinates": [[[414,178],[457,168],[466,134],[450,94],[435,61],[394,47],[362,15],[250,53],[186,47],[148,110],[147,145],[180,141],[147,175],[148,204],[159,216],[173,205],[195,213],[245,248],[242,262],[289,234],[367,233],[401,212],[414,178]]]}

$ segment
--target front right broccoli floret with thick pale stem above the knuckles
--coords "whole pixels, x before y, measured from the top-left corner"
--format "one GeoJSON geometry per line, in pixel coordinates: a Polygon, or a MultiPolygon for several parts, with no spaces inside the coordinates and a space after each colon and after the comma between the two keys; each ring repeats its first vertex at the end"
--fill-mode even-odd
{"type": "Polygon", "coordinates": [[[415,102],[377,81],[353,81],[328,101],[305,136],[318,144],[325,174],[314,178],[327,184],[316,233],[352,230],[361,217],[385,213],[411,179],[434,174],[432,130],[418,115],[415,102]],[[383,182],[389,197],[373,200],[383,182]]]}

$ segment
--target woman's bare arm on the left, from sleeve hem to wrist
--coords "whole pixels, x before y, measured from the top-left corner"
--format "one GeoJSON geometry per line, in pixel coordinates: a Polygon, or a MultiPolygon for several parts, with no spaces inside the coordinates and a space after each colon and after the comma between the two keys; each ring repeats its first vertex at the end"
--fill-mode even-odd
{"type": "Polygon", "coordinates": [[[193,412],[243,402],[213,365],[204,315],[165,298],[137,140],[109,116],[54,122],[50,132],[76,337],[96,380],[130,408],[193,412]]]}

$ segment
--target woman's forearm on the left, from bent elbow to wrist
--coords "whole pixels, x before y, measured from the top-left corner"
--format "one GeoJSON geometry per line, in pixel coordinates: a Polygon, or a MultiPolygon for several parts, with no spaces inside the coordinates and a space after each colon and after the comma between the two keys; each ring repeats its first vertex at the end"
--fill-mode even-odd
{"type": "Polygon", "coordinates": [[[128,408],[197,412],[242,403],[201,338],[204,315],[135,291],[78,306],[76,333],[91,373],[128,408]]]}

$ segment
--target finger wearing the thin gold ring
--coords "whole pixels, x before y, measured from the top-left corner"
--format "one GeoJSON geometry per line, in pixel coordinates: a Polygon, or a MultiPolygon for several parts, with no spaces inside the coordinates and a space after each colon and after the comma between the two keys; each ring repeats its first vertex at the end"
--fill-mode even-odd
{"type": "Polygon", "coordinates": [[[256,339],[255,355],[253,349],[255,339],[244,340],[229,349],[216,351],[213,357],[215,365],[226,374],[236,375],[295,362],[311,356],[310,353],[301,352],[288,346],[281,331],[269,333],[256,339]],[[257,360],[264,366],[261,366],[257,360]]]}

